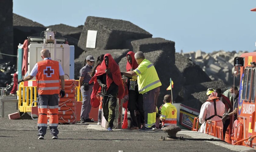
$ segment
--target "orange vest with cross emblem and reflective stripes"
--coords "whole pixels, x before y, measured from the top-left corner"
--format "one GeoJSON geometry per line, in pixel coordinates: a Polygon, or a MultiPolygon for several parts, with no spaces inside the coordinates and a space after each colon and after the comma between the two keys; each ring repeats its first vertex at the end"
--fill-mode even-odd
{"type": "Polygon", "coordinates": [[[59,94],[59,62],[43,60],[37,62],[37,89],[39,95],[59,94]]]}

